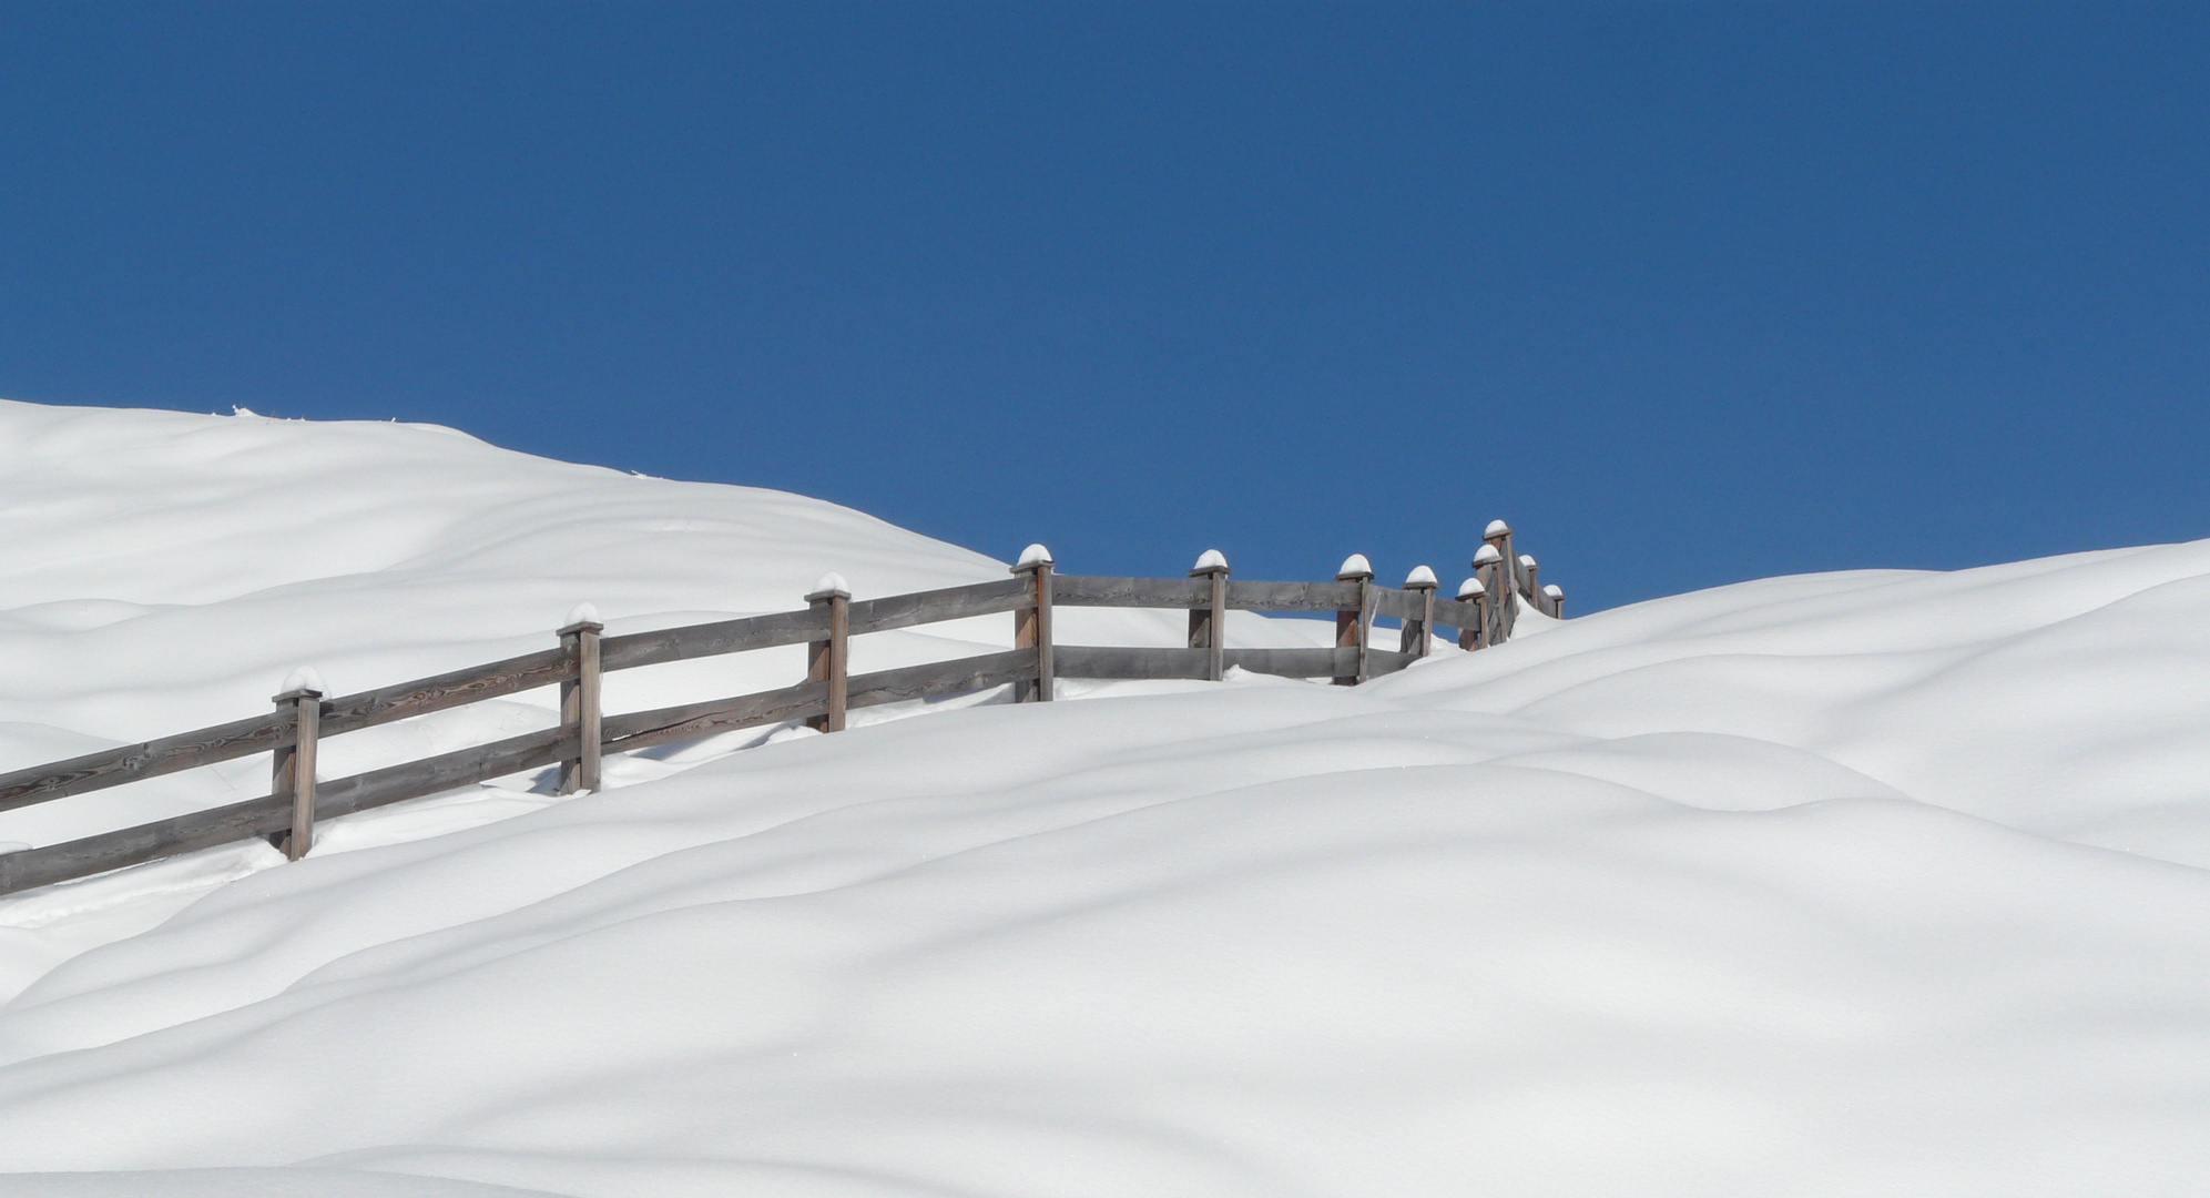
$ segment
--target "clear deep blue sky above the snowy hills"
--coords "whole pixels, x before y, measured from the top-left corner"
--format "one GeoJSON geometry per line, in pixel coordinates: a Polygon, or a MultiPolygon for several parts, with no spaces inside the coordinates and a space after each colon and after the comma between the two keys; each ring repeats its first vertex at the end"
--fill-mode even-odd
{"type": "Polygon", "coordinates": [[[2210,7],[0,2],[0,396],[1582,612],[2206,537],[2210,7]]]}

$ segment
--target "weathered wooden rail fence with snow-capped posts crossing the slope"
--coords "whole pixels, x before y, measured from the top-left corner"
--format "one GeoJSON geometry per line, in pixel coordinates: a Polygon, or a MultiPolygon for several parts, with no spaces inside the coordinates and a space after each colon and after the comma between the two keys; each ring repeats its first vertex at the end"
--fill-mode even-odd
{"type": "Polygon", "coordinates": [[[1200,557],[1185,579],[1123,579],[1056,575],[1052,555],[1043,546],[1030,546],[1012,577],[1001,581],[853,601],[844,581],[829,575],[800,610],[623,637],[601,637],[603,626],[586,603],[559,630],[559,648],[338,698],[325,698],[320,681],[303,670],[285,681],[274,710],[263,716],[0,774],[0,811],[11,811],[272,754],[267,796],[0,855],[0,895],[256,836],[298,860],[314,842],[316,820],[548,765],[561,767],[561,794],[594,791],[599,760],[608,752],[787,721],[842,732],[849,710],[908,698],[1012,685],[1014,703],[1032,703],[1052,698],[1054,679],[1220,681],[1229,668],[1357,685],[1425,656],[1436,626],[1456,628],[1459,645],[1474,650],[1507,641],[1523,601],[1549,617],[1565,614],[1565,592],[1536,586],[1536,561],[1512,553],[1512,528],[1505,522],[1490,524],[1483,542],[1474,577],[1465,579],[1456,599],[1436,595],[1434,570],[1425,566],[1412,570],[1403,588],[1375,586],[1364,555],[1344,561],[1335,581],[1231,579],[1220,553],[1200,557]],[[1054,645],[1054,606],[1180,608],[1189,612],[1189,645],[1054,645]],[[1227,648],[1220,630],[1231,610],[1333,612],[1335,648],[1227,648]],[[1006,612],[1014,617],[1012,650],[873,674],[849,674],[844,668],[851,637],[1006,612]],[[1395,650],[1372,643],[1375,619],[1401,621],[1395,650]],[[606,672],[778,645],[807,645],[802,683],[650,712],[608,716],[599,710],[599,679],[606,672]],[[327,736],[548,685],[559,685],[561,692],[557,727],[349,778],[314,776],[316,745],[327,736]]]}

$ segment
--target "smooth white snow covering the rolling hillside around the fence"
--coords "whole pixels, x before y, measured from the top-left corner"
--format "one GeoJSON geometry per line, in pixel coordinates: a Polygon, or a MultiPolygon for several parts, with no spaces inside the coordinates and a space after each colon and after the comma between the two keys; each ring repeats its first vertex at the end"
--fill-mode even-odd
{"type": "MultiPolygon", "coordinates": [[[[1006,577],[435,429],[4,407],[0,438],[18,760],[259,710],[309,656],[351,690],[539,648],[579,595],[623,630],[789,608],[827,568],[862,597],[1006,577]]],[[[981,623],[873,652],[1010,634],[981,623]]],[[[0,900],[0,1194],[2210,1176],[2210,542],[1523,612],[1361,687],[1061,696],[0,900]],[[141,1171],[38,1174],[84,1169],[141,1171]]]]}

